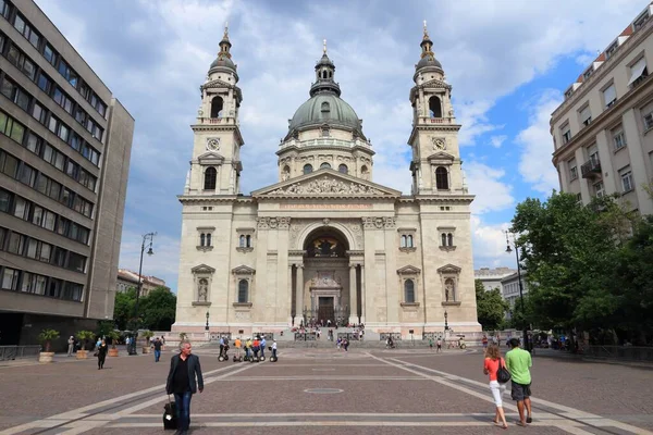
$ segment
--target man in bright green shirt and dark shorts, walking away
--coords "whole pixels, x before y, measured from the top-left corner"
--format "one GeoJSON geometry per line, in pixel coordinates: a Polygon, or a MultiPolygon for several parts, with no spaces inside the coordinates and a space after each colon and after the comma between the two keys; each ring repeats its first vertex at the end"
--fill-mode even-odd
{"type": "Polygon", "coordinates": [[[509,341],[510,350],[506,353],[506,366],[510,371],[513,390],[510,396],[517,401],[519,410],[519,425],[526,426],[531,423],[531,402],[530,402],[530,368],[533,365],[531,356],[526,350],[519,348],[519,339],[512,338],[509,341]],[[523,407],[526,406],[527,417],[523,419],[523,407]]]}

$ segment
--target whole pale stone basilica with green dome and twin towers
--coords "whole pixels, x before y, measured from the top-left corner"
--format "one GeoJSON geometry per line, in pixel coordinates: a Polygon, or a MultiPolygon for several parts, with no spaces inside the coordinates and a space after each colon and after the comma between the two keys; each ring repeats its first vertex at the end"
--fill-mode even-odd
{"type": "MultiPolygon", "coordinates": [[[[184,194],[173,331],[281,332],[311,321],[478,332],[452,87],[424,28],[409,92],[409,196],[373,182],[362,120],[323,49],[276,151],[279,183],[241,194],[243,94],[227,32],[201,85],[184,194]]],[[[408,128],[407,128],[408,129],[408,128]]]]}

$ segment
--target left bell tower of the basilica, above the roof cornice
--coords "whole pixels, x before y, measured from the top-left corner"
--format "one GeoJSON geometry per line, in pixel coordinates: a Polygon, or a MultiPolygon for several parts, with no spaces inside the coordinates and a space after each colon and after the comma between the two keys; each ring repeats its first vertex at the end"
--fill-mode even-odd
{"type": "Polygon", "coordinates": [[[241,192],[241,136],[238,111],[243,94],[237,65],[232,61],[229,27],[220,41],[218,58],[199,87],[201,103],[190,127],[195,135],[193,160],[184,194],[237,195],[241,192]]]}

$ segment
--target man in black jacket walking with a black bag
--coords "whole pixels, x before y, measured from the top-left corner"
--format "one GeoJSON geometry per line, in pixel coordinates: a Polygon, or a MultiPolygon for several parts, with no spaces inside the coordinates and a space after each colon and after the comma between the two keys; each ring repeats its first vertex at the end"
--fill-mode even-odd
{"type": "Polygon", "coordinates": [[[190,426],[190,398],[197,390],[204,390],[204,377],[199,358],[190,353],[190,343],[180,344],[181,352],[170,360],[170,373],[165,383],[165,391],[174,394],[178,430],[175,435],[186,435],[190,426]],[[195,376],[197,375],[197,380],[195,376]]]}

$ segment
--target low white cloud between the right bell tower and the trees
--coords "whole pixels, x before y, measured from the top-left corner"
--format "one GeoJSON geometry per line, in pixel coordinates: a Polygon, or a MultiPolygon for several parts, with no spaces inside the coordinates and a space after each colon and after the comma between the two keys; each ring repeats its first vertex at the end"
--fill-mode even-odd
{"type": "Polygon", "coordinates": [[[506,174],[504,170],[470,162],[465,164],[465,174],[469,192],[476,195],[471,203],[472,213],[501,211],[515,203],[512,186],[501,181],[506,174]]]}

